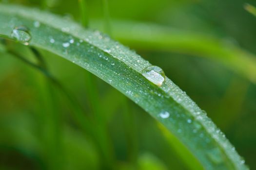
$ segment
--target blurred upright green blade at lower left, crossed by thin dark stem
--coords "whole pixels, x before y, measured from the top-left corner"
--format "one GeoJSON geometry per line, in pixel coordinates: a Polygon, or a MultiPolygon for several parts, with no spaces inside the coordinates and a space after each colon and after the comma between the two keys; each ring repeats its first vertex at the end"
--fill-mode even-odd
{"type": "MultiPolygon", "coordinates": [[[[38,59],[39,65],[43,69],[47,69],[45,62],[40,56],[39,52],[35,49],[32,50],[35,57],[38,59]]],[[[20,57],[20,59],[22,59],[20,57]]],[[[22,61],[26,61],[23,59],[22,61]]],[[[25,62],[29,64],[29,62],[25,62]]],[[[32,65],[31,65],[32,66],[32,65]]],[[[47,77],[36,77],[39,87],[39,100],[40,104],[38,106],[39,119],[42,119],[40,127],[42,131],[43,141],[45,142],[48,168],[49,169],[62,169],[61,162],[64,159],[63,154],[63,144],[62,144],[62,122],[61,115],[58,107],[58,100],[56,98],[55,89],[52,84],[50,84],[47,77]],[[43,106],[44,109],[40,109],[40,106],[43,106]],[[58,155],[60,153],[60,155],[58,155]]]]}

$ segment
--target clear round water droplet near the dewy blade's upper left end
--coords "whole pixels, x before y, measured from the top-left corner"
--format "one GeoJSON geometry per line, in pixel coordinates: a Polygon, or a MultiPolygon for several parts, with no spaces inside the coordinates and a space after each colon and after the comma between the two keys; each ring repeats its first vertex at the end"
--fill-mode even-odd
{"type": "Polygon", "coordinates": [[[26,46],[29,44],[29,41],[31,40],[31,35],[29,34],[28,29],[24,26],[15,27],[11,33],[11,37],[23,43],[26,46]]]}

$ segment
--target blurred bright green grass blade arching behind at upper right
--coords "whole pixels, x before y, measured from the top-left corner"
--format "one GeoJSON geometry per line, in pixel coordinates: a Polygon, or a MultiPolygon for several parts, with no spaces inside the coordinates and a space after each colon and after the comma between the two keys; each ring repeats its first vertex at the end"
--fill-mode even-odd
{"type": "MultiPolygon", "coordinates": [[[[98,21],[94,25],[99,25],[98,21]]],[[[113,37],[141,50],[171,51],[209,58],[256,84],[256,57],[227,39],[129,21],[114,21],[113,37]]]]}

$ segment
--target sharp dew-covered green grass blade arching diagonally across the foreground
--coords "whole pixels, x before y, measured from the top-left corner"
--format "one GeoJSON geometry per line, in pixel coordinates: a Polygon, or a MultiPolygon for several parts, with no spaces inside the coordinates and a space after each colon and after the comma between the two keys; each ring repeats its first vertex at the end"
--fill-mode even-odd
{"type": "Polygon", "coordinates": [[[161,122],[205,169],[247,169],[224,134],[160,68],[108,36],[14,5],[0,5],[0,34],[58,54],[117,88],[161,122]]]}

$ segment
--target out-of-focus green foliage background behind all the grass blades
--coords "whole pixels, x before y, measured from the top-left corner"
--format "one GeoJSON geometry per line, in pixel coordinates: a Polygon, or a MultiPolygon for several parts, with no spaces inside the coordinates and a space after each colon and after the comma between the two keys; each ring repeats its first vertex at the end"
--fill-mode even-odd
{"type": "MultiPolygon", "coordinates": [[[[76,0],[2,1],[42,8],[80,21],[76,0]]],[[[256,18],[244,10],[246,2],[256,5],[253,0],[109,0],[109,11],[113,20],[152,22],[170,29],[203,33],[256,53],[256,18]]],[[[101,0],[88,0],[88,9],[89,26],[94,20],[103,19],[101,0]]],[[[33,60],[27,47],[7,43],[33,60]]],[[[133,48],[163,68],[172,81],[206,110],[246,164],[256,169],[255,84],[215,60],[182,52],[145,50],[136,44],[133,48]]],[[[50,72],[76,96],[85,114],[90,114],[92,99],[86,70],[47,51],[40,52],[50,72]]],[[[154,119],[110,85],[95,79],[98,107],[105,114],[107,133],[114,147],[113,167],[187,169],[154,119]],[[130,122],[124,121],[127,112],[130,122]]],[[[72,112],[58,88],[50,85],[39,71],[7,54],[0,44],[0,170],[99,169],[102,160],[96,146],[71,119],[72,112]],[[53,140],[53,134],[58,134],[58,138],[53,140]],[[56,140],[58,144],[53,143],[56,140]]]]}

